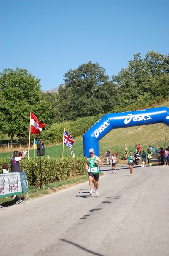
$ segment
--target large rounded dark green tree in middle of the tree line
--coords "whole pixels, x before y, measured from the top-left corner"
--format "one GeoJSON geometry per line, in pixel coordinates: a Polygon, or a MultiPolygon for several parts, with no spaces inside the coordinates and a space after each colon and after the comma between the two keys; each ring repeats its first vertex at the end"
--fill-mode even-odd
{"type": "Polygon", "coordinates": [[[96,116],[113,107],[109,90],[115,93],[115,85],[98,63],[89,61],[75,70],[68,70],[64,77],[65,84],[58,90],[59,110],[64,120],[96,116]]]}

